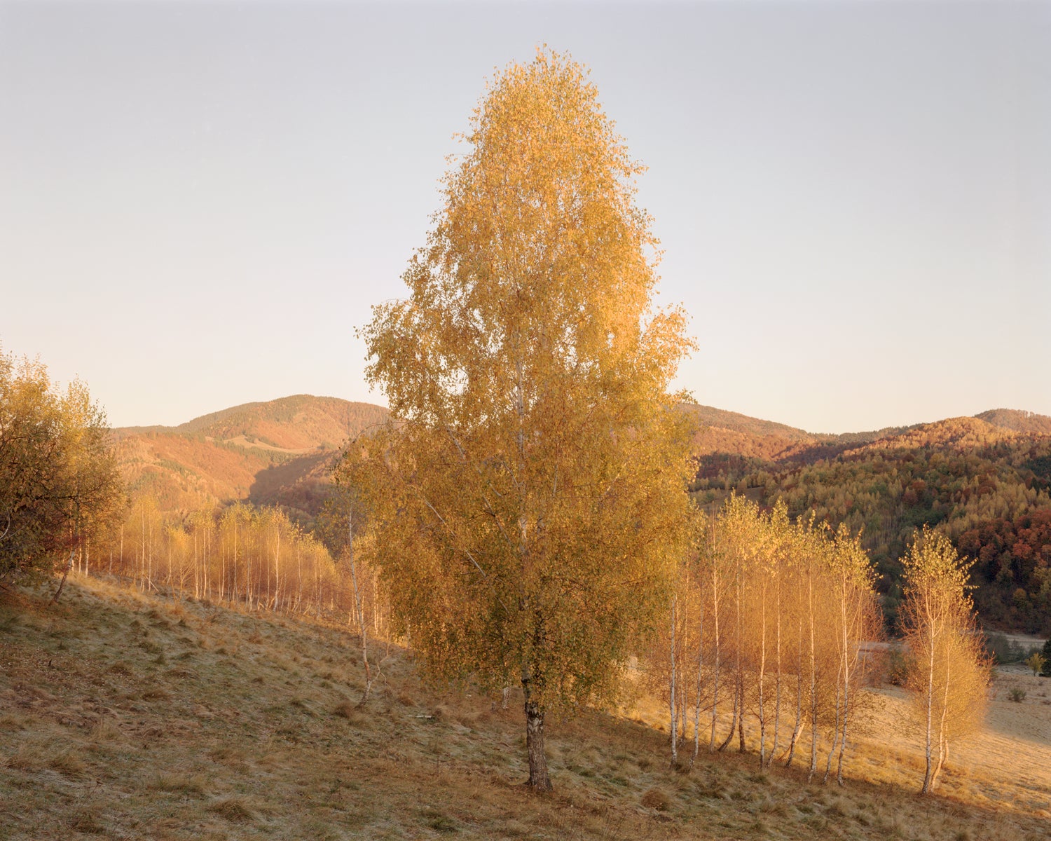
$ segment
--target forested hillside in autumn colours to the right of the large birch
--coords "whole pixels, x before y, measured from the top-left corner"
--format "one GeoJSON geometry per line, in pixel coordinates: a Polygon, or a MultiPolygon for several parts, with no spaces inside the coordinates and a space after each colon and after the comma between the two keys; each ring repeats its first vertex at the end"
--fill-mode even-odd
{"type": "Polygon", "coordinates": [[[736,488],[794,517],[813,512],[863,530],[893,619],[899,559],[915,529],[945,532],[975,559],[975,602],[993,627],[1051,633],[1051,418],[994,410],[862,435],[698,435],[695,489],[704,500],[736,488]],[[873,437],[866,439],[867,435],[873,437]],[[852,439],[852,440],[851,440],[852,439]],[[716,449],[714,443],[723,447],[716,449]]]}

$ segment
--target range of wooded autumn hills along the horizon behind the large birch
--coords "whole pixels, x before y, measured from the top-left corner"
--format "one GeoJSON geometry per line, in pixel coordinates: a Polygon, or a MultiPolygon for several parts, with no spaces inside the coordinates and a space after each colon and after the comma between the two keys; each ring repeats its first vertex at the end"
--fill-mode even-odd
{"type": "MultiPolygon", "coordinates": [[[[702,502],[730,490],[798,517],[863,530],[893,621],[899,558],[915,529],[947,534],[976,561],[982,621],[1051,634],[1051,418],[996,409],[908,427],[815,434],[707,406],[696,422],[692,485],[702,502]]],[[[348,437],[387,410],[295,395],[212,412],[178,427],[116,430],[132,496],[186,517],[236,500],[280,506],[310,527],[329,496],[329,469],[348,437]]]]}

